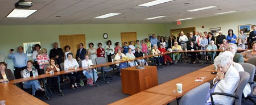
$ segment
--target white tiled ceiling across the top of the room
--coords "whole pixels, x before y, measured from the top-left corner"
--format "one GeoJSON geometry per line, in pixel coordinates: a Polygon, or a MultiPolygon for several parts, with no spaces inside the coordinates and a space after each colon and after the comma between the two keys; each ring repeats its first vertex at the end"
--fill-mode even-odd
{"type": "Polygon", "coordinates": [[[256,10],[256,0],[175,0],[151,7],[142,3],[153,0],[26,0],[36,9],[28,18],[6,18],[15,9],[18,0],[0,1],[0,25],[33,24],[119,24],[119,23],[170,23],[183,18],[206,18],[218,12],[245,12],[256,10]],[[184,3],[189,3],[185,5],[184,3]],[[213,9],[187,12],[200,7],[217,6],[213,9]],[[122,13],[106,19],[94,19],[110,12],[122,13]],[[155,16],[164,18],[144,20],[155,16]],[[61,17],[56,17],[61,16],[61,17]]]}

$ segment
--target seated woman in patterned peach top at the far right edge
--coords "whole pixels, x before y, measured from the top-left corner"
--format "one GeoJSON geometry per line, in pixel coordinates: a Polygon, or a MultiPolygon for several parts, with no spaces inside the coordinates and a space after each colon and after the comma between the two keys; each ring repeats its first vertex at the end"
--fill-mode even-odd
{"type": "Polygon", "coordinates": [[[245,62],[247,62],[249,58],[256,56],[256,41],[253,41],[253,43],[251,43],[251,47],[253,47],[253,50],[244,51],[241,53],[243,55],[243,60],[245,60],[245,62]]]}

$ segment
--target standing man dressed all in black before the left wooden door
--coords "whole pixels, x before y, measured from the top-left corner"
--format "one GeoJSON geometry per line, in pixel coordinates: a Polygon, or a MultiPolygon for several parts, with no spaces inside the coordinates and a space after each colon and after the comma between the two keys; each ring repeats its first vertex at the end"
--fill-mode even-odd
{"type": "Polygon", "coordinates": [[[60,65],[63,62],[64,52],[62,48],[58,48],[58,43],[54,43],[54,48],[51,49],[49,58],[56,58],[57,64],[60,65]]]}

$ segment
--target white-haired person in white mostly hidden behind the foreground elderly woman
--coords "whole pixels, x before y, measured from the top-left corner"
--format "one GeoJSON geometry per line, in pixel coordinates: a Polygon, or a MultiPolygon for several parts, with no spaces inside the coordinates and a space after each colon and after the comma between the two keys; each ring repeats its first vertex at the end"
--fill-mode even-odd
{"type": "MultiPolygon", "coordinates": [[[[229,58],[229,63],[237,69],[238,72],[245,72],[245,70],[243,69],[243,66],[241,64],[238,64],[236,62],[233,61],[233,53],[230,51],[225,51],[223,52],[220,56],[226,56],[229,58]]],[[[245,86],[245,89],[243,89],[243,95],[246,97],[248,94],[251,93],[251,87],[250,84],[247,83],[247,85],[245,86]]]]}

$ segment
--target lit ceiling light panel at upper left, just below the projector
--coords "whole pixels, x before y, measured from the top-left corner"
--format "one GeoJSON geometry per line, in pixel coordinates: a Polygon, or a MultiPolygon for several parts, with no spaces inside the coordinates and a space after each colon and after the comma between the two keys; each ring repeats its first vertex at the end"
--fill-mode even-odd
{"type": "Polygon", "coordinates": [[[14,9],[10,12],[6,18],[27,18],[37,10],[22,10],[22,9],[14,9]]]}

